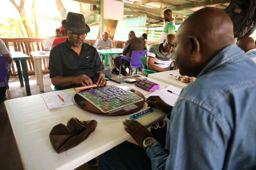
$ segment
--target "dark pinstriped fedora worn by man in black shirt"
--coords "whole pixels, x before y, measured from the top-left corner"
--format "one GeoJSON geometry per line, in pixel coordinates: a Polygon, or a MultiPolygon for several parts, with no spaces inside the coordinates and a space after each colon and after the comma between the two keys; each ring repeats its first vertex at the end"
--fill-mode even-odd
{"type": "Polygon", "coordinates": [[[90,27],[85,23],[82,14],[68,12],[67,19],[61,22],[62,26],[73,33],[89,33],[90,27]]]}

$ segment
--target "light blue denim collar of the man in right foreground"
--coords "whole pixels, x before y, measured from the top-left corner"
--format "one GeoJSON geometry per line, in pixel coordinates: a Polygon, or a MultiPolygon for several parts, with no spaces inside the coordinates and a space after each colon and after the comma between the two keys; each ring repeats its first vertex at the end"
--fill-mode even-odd
{"type": "Polygon", "coordinates": [[[212,58],[212,60],[204,67],[197,78],[211,72],[217,67],[220,67],[224,63],[231,62],[241,57],[246,57],[243,50],[241,50],[236,44],[228,45],[212,58]]]}

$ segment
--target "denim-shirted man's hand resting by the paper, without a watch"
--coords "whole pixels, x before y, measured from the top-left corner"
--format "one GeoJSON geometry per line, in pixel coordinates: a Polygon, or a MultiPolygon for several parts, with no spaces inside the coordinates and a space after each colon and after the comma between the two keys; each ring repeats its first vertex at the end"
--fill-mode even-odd
{"type": "Polygon", "coordinates": [[[146,103],[148,103],[148,107],[155,107],[165,113],[171,113],[172,111],[172,106],[165,103],[159,96],[149,96],[146,103]]]}

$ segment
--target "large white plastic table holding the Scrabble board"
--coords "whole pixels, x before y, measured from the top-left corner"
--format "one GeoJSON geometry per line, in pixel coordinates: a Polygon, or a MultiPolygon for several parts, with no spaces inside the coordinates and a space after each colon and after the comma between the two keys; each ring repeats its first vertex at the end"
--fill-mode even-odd
{"type": "MultiPolygon", "coordinates": [[[[161,89],[169,85],[148,78],[160,84],[161,89]]],[[[108,85],[119,85],[108,81],[108,85]]],[[[121,84],[139,90],[144,95],[149,94],[134,84],[121,84]]],[[[75,94],[74,89],[63,90],[66,94],[75,94]]],[[[38,95],[6,100],[6,107],[13,133],[20,152],[25,170],[37,169],[74,169],[85,162],[108,151],[131,136],[124,130],[120,122],[98,122],[95,131],[82,143],[60,154],[51,145],[49,134],[51,129],[63,123],[67,125],[70,117],[81,121],[91,120],[91,113],[76,105],[49,110],[44,99],[38,95]]],[[[141,110],[147,108],[147,105],[141,110]]],[[[129,115],[127,115],[127,118],[129,115]]],[[[144,126],[149,127],[165,117],[165,113],[155,109],[153,113],[137,119],[144,126]]]]}

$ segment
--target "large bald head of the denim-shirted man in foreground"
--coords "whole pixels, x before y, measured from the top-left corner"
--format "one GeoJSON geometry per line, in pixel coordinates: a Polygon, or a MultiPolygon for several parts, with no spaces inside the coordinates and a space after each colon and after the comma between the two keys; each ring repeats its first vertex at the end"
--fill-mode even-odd
{"type": "Polygon", "coordinates": [[[221,49],[233,43],[231,19],[218,8],[206,7],[190,15],[177,31],[176,62],[184,74],[196,77],[221,49]],[[178,54],[182,49],[184,54],[178,54]]]}

